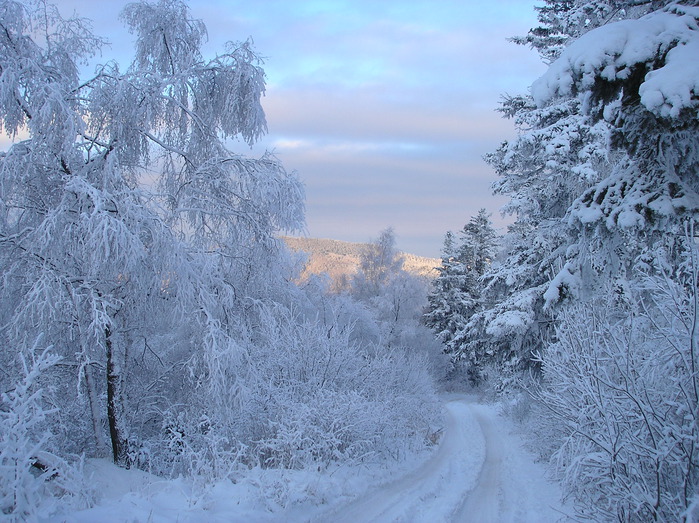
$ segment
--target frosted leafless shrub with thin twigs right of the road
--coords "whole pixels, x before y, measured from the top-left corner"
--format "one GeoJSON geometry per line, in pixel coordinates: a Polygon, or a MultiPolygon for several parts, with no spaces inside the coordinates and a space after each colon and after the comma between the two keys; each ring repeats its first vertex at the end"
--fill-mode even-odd
{"type": "Polygon", "coordinates": [[[699,489],[696,256],[569,308],[542,354],[554,463],[582,517],[677,521],[699,489]]]}

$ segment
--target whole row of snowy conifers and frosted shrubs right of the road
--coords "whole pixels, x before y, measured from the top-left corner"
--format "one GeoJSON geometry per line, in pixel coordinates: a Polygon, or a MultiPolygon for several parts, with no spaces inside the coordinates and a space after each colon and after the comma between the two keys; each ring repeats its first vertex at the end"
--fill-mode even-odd
{"type": "Polygon", "coordinates": [[[472,380],[537,399],[579,517],[694,520],[699,4],[536,9],[515,41],[548,70],[486,157],[514,223],[497,252],[484,212],[447,235],[427,321],[472,380]]]}

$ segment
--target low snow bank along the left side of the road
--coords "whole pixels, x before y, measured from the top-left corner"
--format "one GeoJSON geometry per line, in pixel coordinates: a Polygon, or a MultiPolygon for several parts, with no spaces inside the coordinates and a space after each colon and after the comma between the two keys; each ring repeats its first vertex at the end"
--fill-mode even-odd
{"type": "Polygon", "coordinates": [[[418,468],[431,452],[400,462],[368,462],[316,469],[261,469],[236,481],[197,483],[163,479],[109,460],[89,460],[85,473],[97,493],[93,508],[57,512],[46,523],[229,523],[309,521],[335,504],[345,504],[391,478],[418,468]]]}

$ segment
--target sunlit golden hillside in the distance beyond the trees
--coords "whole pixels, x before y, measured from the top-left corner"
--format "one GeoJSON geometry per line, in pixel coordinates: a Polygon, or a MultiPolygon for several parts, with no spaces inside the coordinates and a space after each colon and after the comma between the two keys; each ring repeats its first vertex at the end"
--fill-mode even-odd
{"type": "MultiPolygon", "coordinates": [[[[308,265],[303,276],[327,273],[336,285],[341,284],[357,271],[360,254],[367,245],[319,238],[284,237],[282,239],[290,249],[309,254],[308,265]]],[[[441,263],[438,258],[401,254],[405,259],[403,265],[405,270],[428,278],[437,276],[435,267],[441,263]]]]}

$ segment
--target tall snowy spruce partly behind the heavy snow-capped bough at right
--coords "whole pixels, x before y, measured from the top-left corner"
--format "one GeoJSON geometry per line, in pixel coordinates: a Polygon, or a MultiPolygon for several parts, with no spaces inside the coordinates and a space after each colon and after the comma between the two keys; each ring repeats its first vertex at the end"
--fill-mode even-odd
{"type": "MultiPolygon", "coordinates": [[[[541,25],[515,41],[551,62],[595,27],[657,8],[653,1],[549,0],[538,8],[541,25]]],[[[608,147],[609,122],[590,119],[584,104],[571,93],[546,105],[529,95],[508,97],[501,111],[514,119],[518,136],[486,157],[500,177],[494,191],[510,197],[504,211],[516,221],[507,252],[484,276],[489,305],[464,336],[489,345],[508,373],[536,367],[532,355],[553,339],[557,303],[589,294],[595,275],[614,269],[587,255],[587,236],[568,222],[574,202],[626,158],[608,147]]]]}

